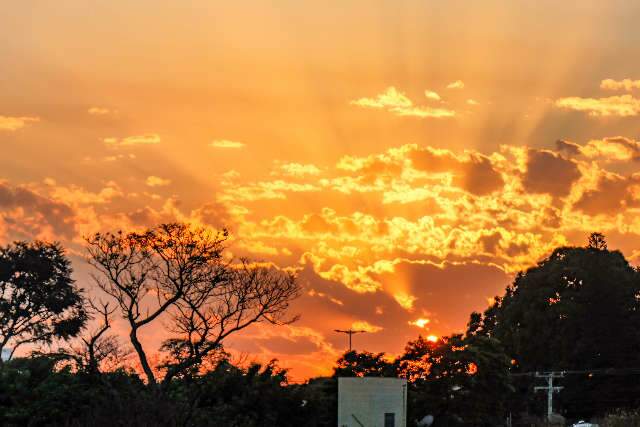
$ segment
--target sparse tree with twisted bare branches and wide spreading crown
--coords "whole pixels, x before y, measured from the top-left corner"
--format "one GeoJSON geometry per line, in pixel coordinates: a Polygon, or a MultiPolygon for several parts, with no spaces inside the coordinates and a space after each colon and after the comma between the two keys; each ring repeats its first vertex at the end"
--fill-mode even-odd
{"type": "Polygon", "coordinates": [[[225,259],[228,233],[187,224],[162,224],[143,233],[97,233],[87,239],[98,286],[117,303],[148,383],[158,383],[139,340],[140,329],[161,316],[174,336],[163,349],[163,388],[193,372],[223,340],[257,322],[283,324],[300,288],[292,273],[225,259]]]}

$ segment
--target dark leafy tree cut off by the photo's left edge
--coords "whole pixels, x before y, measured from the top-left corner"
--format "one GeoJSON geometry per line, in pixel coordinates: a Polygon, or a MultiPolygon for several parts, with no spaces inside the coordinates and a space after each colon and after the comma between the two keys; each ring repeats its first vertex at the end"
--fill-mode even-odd
{"type": "MultiPolygon", "coordinates": [[[[82,289],[57,243],[0,247],[0,352],[76,336],[87,320],[82,289]]],[[[1,362],[0,362],[1,363],[1,362]]]]}

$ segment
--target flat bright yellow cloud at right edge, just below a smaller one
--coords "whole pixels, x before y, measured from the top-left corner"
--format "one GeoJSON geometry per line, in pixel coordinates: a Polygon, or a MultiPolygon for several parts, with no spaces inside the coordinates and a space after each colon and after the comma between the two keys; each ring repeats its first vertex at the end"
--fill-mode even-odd
{"type": "Polygon", "coordinates": [[[610,96],[608,98],[573,96],[556,100],[555,106],[565,110],[585,112],[592,117],[631,117],[640,113],[640,99],[631,95],[610,96]]]}

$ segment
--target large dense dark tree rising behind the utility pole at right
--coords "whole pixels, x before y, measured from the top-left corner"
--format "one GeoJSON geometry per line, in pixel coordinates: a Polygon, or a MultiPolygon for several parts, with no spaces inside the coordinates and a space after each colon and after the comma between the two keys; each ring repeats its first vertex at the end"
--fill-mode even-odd
{"type": "Polygon", "coordinates": [[[557,248],[518,274],[472,315],[469,333],[500,340],[516,372],[582,371],[562,380],[557,401],[569,416],[602,414],[638,403],[638,375],[620,370],[640,367],[639,297],[640,273],[594,233],[586,247],[557,248]]]}

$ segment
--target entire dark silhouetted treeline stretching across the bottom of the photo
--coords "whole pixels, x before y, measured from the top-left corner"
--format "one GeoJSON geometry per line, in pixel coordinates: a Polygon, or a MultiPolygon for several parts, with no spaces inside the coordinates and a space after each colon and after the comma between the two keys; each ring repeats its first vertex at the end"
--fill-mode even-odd
{"type": "Polygon", "coordinates": [[[640,407],[640,271],[600,234],[518,274],[464,333],[418,337],[392,360],[348,352],[332,377],[304,384],[224,352],[251,324],[294,321],[300,292],[286,272],[229,258],[227,238],[184,224],[91,236],[92,297],[59,245],[0,248],[0,425],[334,426],[337,377],[398,376],[410,426],[530,426],[546,413],[537,371],[567,372],[554,398],[567,419],[637,422],[626,414],[640,407]],[[116,316],[126,340],[111,332],[116,316]],[[138,339],[149,325],[169,329],[160,349],[138,339]],[[12,357],[22,346],[39,349],[12,357]]]}

